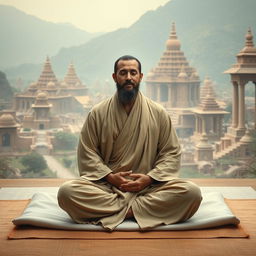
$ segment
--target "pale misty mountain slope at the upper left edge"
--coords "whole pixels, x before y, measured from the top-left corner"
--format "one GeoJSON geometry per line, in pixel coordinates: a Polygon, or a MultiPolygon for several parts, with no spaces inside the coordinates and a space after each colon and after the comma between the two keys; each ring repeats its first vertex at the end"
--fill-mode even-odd
{"type": "Polygon", "coordinates": [[[0,68],[41,63],[61,47],[87,42],[95,34],[70,24],[52,23],[14,7],[0,5],[0,68]]]}

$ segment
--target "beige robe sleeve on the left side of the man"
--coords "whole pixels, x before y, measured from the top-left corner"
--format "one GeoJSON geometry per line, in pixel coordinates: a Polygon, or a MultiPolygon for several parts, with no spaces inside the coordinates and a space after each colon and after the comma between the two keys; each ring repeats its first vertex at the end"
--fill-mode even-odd
{"type": "Polygon", "coordinates": [[[77,150],[80,176],[92,181],[100,180],[112,172],[104,164],[99,151],[99,127],[95,115],[90,112],[82,128],[77,150]]]}

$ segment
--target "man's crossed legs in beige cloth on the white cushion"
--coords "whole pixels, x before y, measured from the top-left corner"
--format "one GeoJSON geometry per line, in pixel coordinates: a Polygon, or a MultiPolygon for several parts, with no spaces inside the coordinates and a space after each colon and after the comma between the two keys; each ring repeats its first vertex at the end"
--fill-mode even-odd
{"type": "Polygon", "coordinates": [[[201,192],[194,183],[182,179],[130,193],[104,181],[91,182],[81,177],[60,187],[58,202],[77,223],[104,218],[120,223],[134,216],[141,228],[148,228],[192,217],[200,205],[201,192]]]}

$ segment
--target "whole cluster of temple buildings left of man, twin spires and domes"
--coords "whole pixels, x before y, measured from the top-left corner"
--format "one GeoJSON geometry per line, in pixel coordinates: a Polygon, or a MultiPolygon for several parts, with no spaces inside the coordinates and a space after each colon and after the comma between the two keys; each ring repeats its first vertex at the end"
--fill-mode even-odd
{"type": "Polygon", "coordinates": [[[15,95],[14,110],[0,112],[0,152],[50,153],[53,134],[79,132],[91,107],[88,89],[74,65],[70,64],[64,80],[58,81],[47,57],[38,81],[15,95]]]}

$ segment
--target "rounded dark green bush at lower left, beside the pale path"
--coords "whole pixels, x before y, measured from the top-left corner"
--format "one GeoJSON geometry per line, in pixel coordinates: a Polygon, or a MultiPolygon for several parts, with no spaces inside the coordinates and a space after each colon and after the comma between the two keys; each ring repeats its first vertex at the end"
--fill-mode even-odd
{"type": "Polygon", "coordinates": [[[36,152],[23,156],[21,163],[25,166],[24,173],[40,173],[48,167],[43,156],[36,152]]]}

